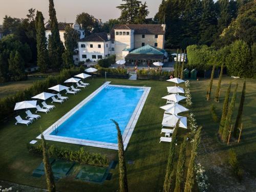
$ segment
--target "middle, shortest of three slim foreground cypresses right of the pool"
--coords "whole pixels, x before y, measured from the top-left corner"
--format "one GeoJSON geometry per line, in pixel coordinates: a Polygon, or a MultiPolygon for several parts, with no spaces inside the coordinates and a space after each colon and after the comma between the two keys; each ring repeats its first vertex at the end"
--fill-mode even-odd
{"type": "Polygon", "coordinates": [[[186,160],[186,137],[180,146],[179,160],[177,164],[176,182],[174,192],[183,191],[184,173],[185,173],[185,160],[186,160]]]}

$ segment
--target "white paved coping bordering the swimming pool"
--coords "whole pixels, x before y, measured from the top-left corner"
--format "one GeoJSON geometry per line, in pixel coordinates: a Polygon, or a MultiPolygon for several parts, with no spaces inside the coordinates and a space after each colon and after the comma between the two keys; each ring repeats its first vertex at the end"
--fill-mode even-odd
{"type": "MultiPolygon", "coordinates": [[[[59,141],[59,142],[66,142],[66,143],[73,143],[73,144],[79,144],[79,145],[95,146],[95,147],[101,147],[101,148],[109,148],[112,150],[118,150],[118,144],[115,144],[115,143],[100,142],[100,141],[93,141],[93,140],[86,140],[86,139],[77,139],[77,138],[71,138],[71,137],[62,137],[62,136],[50,135],[50,134],[60,124],[65,122],[70,116],[72,116],[75,112],[77,112],[84,104],[89,102],[102,89],[104,89],[105,85],[112,86],[112,87],[140,88],[140,89],[143,89],[144,92],[141,95],[141,98],[140,98],[140,100],[139,100],[129,122],[126,125],[123,134],[122,134],[123,145],[124,145],[124,150],[125,150],[129,143],[129,140],[132,136],[135,125],[139,119],[140,113],[143,109],[146,98],[147,98],[148,94],[150,93],[151,88],[150,87],[136,87],[136,86],[120,86],[120,85],[115,85],[115,84],[110,84],[110,83],[111,83],[111,81],[106,81],[102,86],[100,86],[97,90],[95,90],[91,95],[89,95],[87,98],[83,99],[72,110],[70,110],[68,113],[66,113],[64,116],[62,116],[60,119],[58,119],[50,127],[48,127],[48,129],[42,133],[44,135],[45,139],[51,140],[51,141],[59,141]],[[56,126],[56,125],[58,125],[58,126],[56,126]]],[[[38,135],[36,138],[41,139],[41,135],[38,135]]]]}

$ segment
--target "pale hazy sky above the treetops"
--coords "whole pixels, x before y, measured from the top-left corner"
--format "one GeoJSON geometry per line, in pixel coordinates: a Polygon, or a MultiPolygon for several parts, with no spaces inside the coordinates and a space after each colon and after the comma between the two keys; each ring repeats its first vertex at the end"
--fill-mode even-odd
{"type": "MultiPolygon", "coordinates": [[[[141,0],[145,2],[145,0],[141,0]]],[[[154,17],[158,11],[161,0],[146,0],[150,14],[154,17]]],[[[120,15],[116,6],[122,0],[54,0],[58,22],[74,22],[76,15],[87,12],[96,18],[101,18],[103,22],[110,18],[117,18],[120,15]]],[[[28,10],[34,8],[42,12],[45,20],[48,20],[48,0],[0,0],[0,24],[3,23],[5,15],[11,17],[25,18],[28,10]]]]}

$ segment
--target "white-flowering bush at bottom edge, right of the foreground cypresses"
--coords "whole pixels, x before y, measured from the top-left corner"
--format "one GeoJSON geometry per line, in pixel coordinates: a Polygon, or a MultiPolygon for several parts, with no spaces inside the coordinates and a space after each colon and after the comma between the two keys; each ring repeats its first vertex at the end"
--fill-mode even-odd
{"type": "Polygon", "coordinates": [[[208,177],[205,174],[204,167],[200,163],[196,165],[196,180],[199,190],[201,192],[206,192],[209,186],[207,183],[208,177]]]}

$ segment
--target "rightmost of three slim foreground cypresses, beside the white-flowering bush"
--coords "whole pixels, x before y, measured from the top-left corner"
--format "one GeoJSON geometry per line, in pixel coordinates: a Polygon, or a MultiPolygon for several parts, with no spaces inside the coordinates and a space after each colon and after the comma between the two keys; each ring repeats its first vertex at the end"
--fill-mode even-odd
{"type": "Polygon", "coordinates": [[[201,133],[202,127],[199,127],[197,130],[197,133],[195,135],[195,139],[193,142],[193,148],[191,151],[191,157],[190,161],[188,164],[188,169],[187,169],[187,177],[186,177],[186,183],[185,183],[185,188],[184,192],[192,192],[194,184],[195,184],[195,162],[196,162],[196,157],[197,157],[197,149],[198,145],[200,143],[200,133],[201,133]]]}

